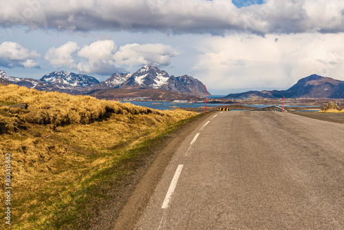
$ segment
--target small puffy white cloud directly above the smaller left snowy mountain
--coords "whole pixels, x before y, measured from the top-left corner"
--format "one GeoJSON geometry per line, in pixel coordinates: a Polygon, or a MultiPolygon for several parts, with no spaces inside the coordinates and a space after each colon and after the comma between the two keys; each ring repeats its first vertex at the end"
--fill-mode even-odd
{"type": "Polygon", "coordinates": [[[76,67],[74,63],[73,54],[78,50],[78,43],[68,41],[58,48],[50,48],[45,54],[45,60],[49,61],[54,67],[67,66],[69,68],[76,67]]]}

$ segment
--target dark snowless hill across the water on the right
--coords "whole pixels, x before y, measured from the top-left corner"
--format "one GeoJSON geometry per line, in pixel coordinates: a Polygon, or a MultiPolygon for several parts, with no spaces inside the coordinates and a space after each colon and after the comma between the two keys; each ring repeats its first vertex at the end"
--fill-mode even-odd
{"type": "Polygon", "coordinates": [[[225,98],[344,98],[344,81],[312,74],[300,79],[288,90],[248,91],[225,98]]]}

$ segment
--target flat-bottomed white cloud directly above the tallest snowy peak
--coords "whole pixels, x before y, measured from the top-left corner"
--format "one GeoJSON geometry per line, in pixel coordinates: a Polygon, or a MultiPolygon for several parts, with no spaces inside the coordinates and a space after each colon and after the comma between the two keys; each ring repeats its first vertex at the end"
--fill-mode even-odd
{"type": "Polygon", "coordinates": [[[143,44],[137,43],[127,44],[120,47],[120,50],[114,54],[116,63],[122,65],[168,65],[171,56],[178,56],[182,52],[171,47],[171,45],[163,45],[160,43],[143,44]]]}

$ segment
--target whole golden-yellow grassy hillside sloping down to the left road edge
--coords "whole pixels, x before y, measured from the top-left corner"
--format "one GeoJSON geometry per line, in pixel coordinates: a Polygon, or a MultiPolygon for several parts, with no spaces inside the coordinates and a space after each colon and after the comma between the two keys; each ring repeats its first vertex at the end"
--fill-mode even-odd
{"type": "MultiPolygon", "coordinates": [[[[1,85],[0,154],[1,162],[11,154],[11,228],[87,228],[109,198],[107,189],[127,173],[123,165],[140,154],[137,147],[191,116],[1,85]],[[28,108],[10,107],[22,103],[28,108]]],[[[4,180],[0,186],[3,191],[4,180]]],[[[4,213],[5,196],[0,202],[4,213]]]]}

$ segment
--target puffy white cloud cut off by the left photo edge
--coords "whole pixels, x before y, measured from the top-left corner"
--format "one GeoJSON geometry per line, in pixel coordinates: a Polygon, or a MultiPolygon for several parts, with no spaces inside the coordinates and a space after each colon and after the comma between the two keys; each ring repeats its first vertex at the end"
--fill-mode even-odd
{"type": "Polygon", "coordinates": [[[0,66],[2,67],[39,67],[34,59],[41,56],[36,50],[30,51],[23,45],[11,41],[0,44],[0,66]]]}

